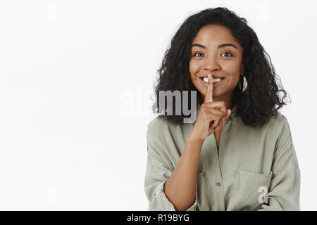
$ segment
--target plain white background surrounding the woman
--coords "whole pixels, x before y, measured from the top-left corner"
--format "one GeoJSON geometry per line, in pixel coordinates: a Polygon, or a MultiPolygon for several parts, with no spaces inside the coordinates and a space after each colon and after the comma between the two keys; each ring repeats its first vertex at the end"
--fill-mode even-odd
{"type": "Polygon", "coordinates": [[[147,210],[154,78],[187,16],[247,19],[292,103],[302,210],[317,210],[314,1],[1,1],[0,210],[147,210]]]}

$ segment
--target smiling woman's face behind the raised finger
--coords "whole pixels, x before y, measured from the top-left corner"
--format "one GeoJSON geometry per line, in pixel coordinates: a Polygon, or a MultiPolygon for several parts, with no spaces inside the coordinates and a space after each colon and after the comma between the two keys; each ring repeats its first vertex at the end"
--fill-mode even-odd
{"type": "Polygon", "coordinates": [[[201,27],[192,41],[189,73],[192,83],[201,93],[202,100],[207,90],[203,77],[208,77],[211,73],[213,78],[224,78],[213,83],[213,101],[230,103],[242,72],[242,47],[232,37],[228,28],[220,25],[201,27]]]}

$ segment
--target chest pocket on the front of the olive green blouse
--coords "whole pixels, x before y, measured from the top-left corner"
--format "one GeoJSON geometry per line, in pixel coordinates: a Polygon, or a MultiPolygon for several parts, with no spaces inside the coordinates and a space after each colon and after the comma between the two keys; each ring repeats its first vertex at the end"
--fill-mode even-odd
{"type": "Polygon", "coordinates": [[[267,193],[271,184],[272,172],[256,174],[237,169],[234,179],[234,196],[236,210],[257,210],[268,203],[267,193]]]}

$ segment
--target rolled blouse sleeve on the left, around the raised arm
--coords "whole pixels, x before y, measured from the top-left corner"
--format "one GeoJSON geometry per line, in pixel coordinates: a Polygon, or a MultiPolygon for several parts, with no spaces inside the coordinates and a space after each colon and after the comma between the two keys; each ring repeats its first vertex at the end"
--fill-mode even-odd
{"type": "MultiPolygon", "coordinates": [[[[173,174],[173,168],[170,168],[162,157],[162,150],[166,150],[164,149],[166,147],[158,136],[161,130],[150,125],[147,131],[147,171],[144,179],[144,191],[149,200],[148,210],[175,211],[174,205],[170,203],[164,193],[164,184],[173,174]]],[[[187,211],[196,209],[197,191],[195,201],[187,211]]]]}

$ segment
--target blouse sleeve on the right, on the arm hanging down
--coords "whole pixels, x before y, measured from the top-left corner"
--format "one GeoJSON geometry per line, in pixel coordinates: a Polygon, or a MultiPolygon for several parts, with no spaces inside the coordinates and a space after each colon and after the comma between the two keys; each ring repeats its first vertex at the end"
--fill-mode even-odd
{"type": "Polygon", "coordinates": [[[290,126],[284,117],[280,136],[275,145],[272,164],[273,176],[268,188],[268,201],[263,211],[300,210],[300,170],[290,126]]]}

